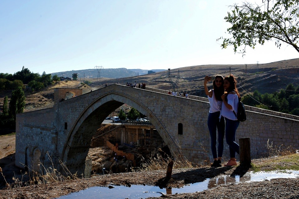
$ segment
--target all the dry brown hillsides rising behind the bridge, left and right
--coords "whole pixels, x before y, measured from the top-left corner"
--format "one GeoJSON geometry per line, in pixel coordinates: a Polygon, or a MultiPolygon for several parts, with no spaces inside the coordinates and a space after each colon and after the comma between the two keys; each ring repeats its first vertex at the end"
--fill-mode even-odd
{"type": "MultiPolygon", "coordinates": [[[[206,75],[215,76],[220,74],[222,76],[231,74],[238,77],[239,91],[241,94],[246,94],[258,90],[264,94],[266,92],[273,93],[284,89],[289,83],[294,86],[299,85],[299,58],[283,60],[279,62],[272,62],[267,64],[248,64],[245,65],[200,65],[182,67],[171,69],[171,75],[181,76],[178,81],[176,91],[187,91],[189,95],[205,96],[203,88],[203,79],[206,75]]],[[[126,82],[137,84],[145,82],[148,87],[154,87],[162,90],[170,90],[171,84],[168,79],[168,71],[156,72],[153,74],[123,77],[117,79],[109,78],[85,78],[92,82],[88,86],[82,87],[80,81],[59,82],[55,85],[49,86],[43,91],[26,95],[26,108],[25,111],[30,111],[36,108],[45,108],[53,104],[54,88],[56,87],[72,87],[83,88],[84,92],[89,92],[91,89],[95,90],[105,86],[105,84],[120,83],[126,85],[126,82]]],[[[172,77],[176,81],[176,77],[172,77]]],[[[209,83],[208,87],[211,88],[212,84],[209,83]]],[[[0,106],[3,105],[3,99],[7,95],[11,96],[11,90],[0,92],[0,106]]]]}

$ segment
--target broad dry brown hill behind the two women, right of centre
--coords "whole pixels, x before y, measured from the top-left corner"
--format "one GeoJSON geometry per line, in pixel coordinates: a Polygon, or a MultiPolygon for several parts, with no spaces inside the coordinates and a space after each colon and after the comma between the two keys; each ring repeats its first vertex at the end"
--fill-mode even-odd
{"type": "MultiPolygon", "coordinates": [[[[273,93],[284,89],[288,84],[299,85],[299,59],[283,60],[266,64],[248,64],[247,68],[242,65],[200,65],[182,67],[170,70],[171,75],[181,76],[177,91],[187,91],[190,95],[204,95],[203,79],[206,75],[222,76],[229,75],[230,72],[238,77],[238,89],[242,94],[259,90],[260,93],[273,93]]],[[[176,77],[172,77],[176,81],[176,77]]],[[[154,74],[97,81],[93,86],[101,86],[105,83],[112,84],[119,82],[125,85],[126,82],[137,84],[145,82],[147,86],[163,90],[171,89],[169,84],[168,71],[157,72],[154,74]]],[[[211,84],[209,84],[211,88],[211,84]]]]}

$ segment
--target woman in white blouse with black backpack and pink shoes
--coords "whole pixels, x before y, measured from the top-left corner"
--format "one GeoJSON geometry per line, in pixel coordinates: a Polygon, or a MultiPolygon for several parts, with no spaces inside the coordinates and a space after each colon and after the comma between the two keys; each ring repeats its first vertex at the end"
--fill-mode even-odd
{"type": "Polygon", "coordinates": [[[236,79],[233,75],[225,76],[224,78],[224,94],[222,98],[221,115],[225,118],[225,139],[230,146],[230,160],[224,166],[236,166],[236,152],[239,154],[239,145],[235,142],[235,136],[240,121],[235,113],[238,111],[240,94],[237,89],[236,79]],[[235,112],[235,113],[234,113],[235,112]]]}

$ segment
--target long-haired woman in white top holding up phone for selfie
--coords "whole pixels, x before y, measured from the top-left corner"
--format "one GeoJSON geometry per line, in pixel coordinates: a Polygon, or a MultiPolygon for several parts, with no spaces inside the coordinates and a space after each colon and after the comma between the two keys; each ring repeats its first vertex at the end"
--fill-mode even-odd
{"type": "Polygon", "coordinates": [[[222,99],[221,96],[224,93],[223,88],[223,76],[216,75],[215,80],[213,81],[213,89],[208,90],[206,86],[207,82],[211,81],[210,76],[206,76],[204,79],[205,93],[208,96],[210,103],[209,117],[208,117],[208,128],[211,136],[211,151],[213,155],[214,162],[211,164],[211,167],[221,167],[221,159],[224,148],[224,130],[225,122],[224,117],[221,116],[221,106],[222,99]],[[218,155],[217,155],[217,133],[216,128],[218,129],[218,155]]]}

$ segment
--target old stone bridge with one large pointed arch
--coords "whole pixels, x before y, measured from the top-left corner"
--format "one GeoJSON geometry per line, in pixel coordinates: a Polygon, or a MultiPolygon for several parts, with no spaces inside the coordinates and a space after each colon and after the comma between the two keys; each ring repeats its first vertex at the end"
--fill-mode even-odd
{"type": "MultiPolygon", "coordinates": [[[[167,93],[118,84],[84,95],[81,89],[57,88],[54,107],[17,114],[16,165],[37,170],[40,161],[45,168],[52,164],[60,168],[61,160],[71,173],[78,171],[88,177],[91,162],[86,157],[92,137],[103,120],[122,104],[146,115],[173,155],[183,155],[193,163],[211,159],[207,98],[167,93]],[[77,97],[63,100],[66,92],[77,97]]],[[[250,137],[253,158],[266,155],[268,140],[274,146],[298,149],[299,117],[249,106],[246,109],[247,120],[240,123],[236,139],[250,137]]],[[[229,158],[227,146],[224,156],[229,158]]]]}

